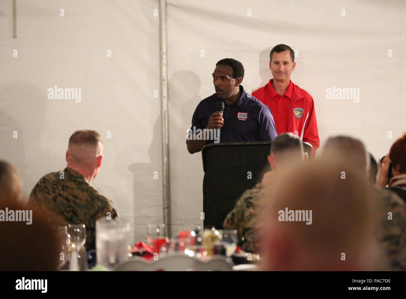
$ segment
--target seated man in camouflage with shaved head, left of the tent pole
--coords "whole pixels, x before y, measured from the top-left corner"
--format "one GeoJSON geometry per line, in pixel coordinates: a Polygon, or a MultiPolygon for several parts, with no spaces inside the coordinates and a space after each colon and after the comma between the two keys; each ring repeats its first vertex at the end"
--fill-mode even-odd
{"type": "Polygon", "coordinates": [[[95,249],[96,220],[117,216],[112,202],[90,184],[102,160],[102,137],[95,131],[76,131],[69,139],[67,167],[42,177],[28,201],[52,211],[61,225],[86,225],[87,250],[95,249]]]}

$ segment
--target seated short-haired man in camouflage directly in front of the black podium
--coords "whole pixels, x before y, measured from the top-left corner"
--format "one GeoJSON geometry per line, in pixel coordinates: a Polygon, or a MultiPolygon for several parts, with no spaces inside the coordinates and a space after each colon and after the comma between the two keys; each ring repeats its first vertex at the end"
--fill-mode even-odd
{"type": "Polygon", "coordinates": [[[234,209],[224,220],[225,229],[236,229],[238,238],[242,240],[242,249],[257,253],[258,213],[262,209],[261,193],[265,187],[270,188],[272,180],[278,172],[289,164],[300,164],[307,156],[303,153],[303,144],[292,133],[283,133],[272,142],[268,162],[272,171],[267,172],[261,181],[252,189],[246,190],[235,203],[234,209]]]}

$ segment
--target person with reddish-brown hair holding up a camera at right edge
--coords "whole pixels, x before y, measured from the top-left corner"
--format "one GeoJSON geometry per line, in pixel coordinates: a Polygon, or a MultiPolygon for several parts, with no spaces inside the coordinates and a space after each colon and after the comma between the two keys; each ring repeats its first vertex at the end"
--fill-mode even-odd
{"type": "Polygon", "coordinates": [[[378,163],[379,176],[376,186],[385,187],[389,184],[389,190],[395,192],[406,202],[406,133],[395,141],[389,154],[378,163]],[[392,165],[393,177],[388,178],[390,164],[392,165]]]}

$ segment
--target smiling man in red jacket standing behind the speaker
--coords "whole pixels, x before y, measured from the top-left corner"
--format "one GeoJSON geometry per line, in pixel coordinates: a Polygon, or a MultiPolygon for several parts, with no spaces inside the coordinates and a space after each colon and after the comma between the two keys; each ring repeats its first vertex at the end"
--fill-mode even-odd
{"type": "Polygon", "coordinates": [[[295,69],[294,51],[287,45],[277,45],[270,52],[271,79],[252,95],[267,105],[274,117],[276,132],[292,132],[313,146],[312,156],[320,146],[316,113],[311,95],[290,80],[295,69]]]}

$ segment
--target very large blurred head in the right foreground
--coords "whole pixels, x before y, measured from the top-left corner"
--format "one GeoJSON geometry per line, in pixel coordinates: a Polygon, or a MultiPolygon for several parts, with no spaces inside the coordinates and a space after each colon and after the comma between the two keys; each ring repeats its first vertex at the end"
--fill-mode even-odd
{"type": "Polygon", "coordinates": [[[372,186],[364,172],[337,159],[284,170],[264,197],[265,270],[378,270],[372,186]]]}

